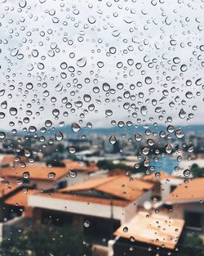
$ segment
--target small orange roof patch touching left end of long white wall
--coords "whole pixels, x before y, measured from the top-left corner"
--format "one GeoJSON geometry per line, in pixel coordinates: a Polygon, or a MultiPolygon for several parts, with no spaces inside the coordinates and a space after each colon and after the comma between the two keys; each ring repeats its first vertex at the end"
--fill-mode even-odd
{"type": "Polygon", "coordinates": [[[29,195],[35,194],[36,190],[21,190],[16,194],[11,195],[7,200],[5,200],[6,204],[11,204],[15,206],[27,206],[28,205],[28,197],[29,195]]]}

